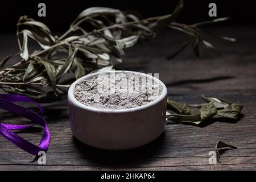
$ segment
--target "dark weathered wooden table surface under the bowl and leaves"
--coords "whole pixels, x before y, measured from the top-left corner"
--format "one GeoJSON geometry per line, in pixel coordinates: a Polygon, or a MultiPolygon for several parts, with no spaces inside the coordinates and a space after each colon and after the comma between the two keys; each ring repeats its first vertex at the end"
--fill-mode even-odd
{"type": "MultiPolygon", "coordinates": [[[[218,35],[237,38],[236,43],[214,41],[223,57],[203,48],[201,57],[185,49],[174,60],[165,56],[183,43],[183,36],[166,31],[147,45],[126,51],[118,69],[159,73],[175,101],[203,102],[200,95],[219,96],[244,105],[238,122],[214,119],[203,126],[166,125],[154,142],[135,150],[110,152],[80,143],[72,136],[68,122],[67,101],[43,105],[51,132],[46,165],[40,166],[34,156],[20,150],[0,136],[0,169],[139,169],[139,170],[205,170],[256,169],[256,28],[212,28],[218,35]],[[218,140],[237,146],[222,154],[221,163],[209,165],[209,151],[218,140]]],[[[0,57],[17,50],[13,35],[0,35],[0,57]],[[6,44],[8,42],[8,44],[6,44]]],[[[0,122],[26,121],[1,110],[0,122]]],[[[27,140],[38,143],[42,129],[17,131],[27,140]]]]}

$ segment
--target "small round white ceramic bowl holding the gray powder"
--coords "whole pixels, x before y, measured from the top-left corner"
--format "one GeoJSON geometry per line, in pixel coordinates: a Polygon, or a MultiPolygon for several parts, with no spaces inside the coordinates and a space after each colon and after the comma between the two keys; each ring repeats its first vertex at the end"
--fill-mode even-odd
{"type": "MultiPolygon", "coordinates": [[[[131,71],[112,72],[147,76],[144,73],[131,71]]],[[[73,94],[78,82],[98,74],[92,73],[79,78],[68,90],[69,121],[72,133],[77,139],[89,146],[104,150],[127,150],[143,146],[163,133],[167,89],[162,81],[152,77],[155,81],[159,81],[163,89],[156,100],[146,105],[130,109],[98,109],[81,104],[73,94]]]]}

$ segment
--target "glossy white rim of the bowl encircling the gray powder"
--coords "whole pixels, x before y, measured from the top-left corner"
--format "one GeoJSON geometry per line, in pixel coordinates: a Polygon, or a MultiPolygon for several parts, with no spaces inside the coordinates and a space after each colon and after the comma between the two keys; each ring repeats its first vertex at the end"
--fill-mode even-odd
{"type": "Polygon", "coordinates": [[[68,102],[72,102],[73,105],[76,105],[77,107],[80,107],[81,109],[95,111],[97,113],[127,113],[127,112],[131,112],[131,111],[142,110],[142,109],[146,109],[147,107],[158,104],[158,102],[162,101],[166,96],[167,96],[166,85],[164,85],[164,83],[161,80],[159,80],[158,78],[156,78],[154,76],[151,76],[151,75],[147,75],[146,73],[134,72],[134,71],[122,71],[122,70],[89,73],[88,75],[82,76],[81,78],[79,78],[75,82],[73,82],[71,84],[71,86],[69,87],[69,89],[68,89],[68,102]],[[123,72],[125,72],[125,73],[135,73],[135,74],[139,74],[139,75],[152,77],[152,78],[154,78],[155,81],[159,81],[160,85],[163,86],[162,93],[154,101],[148,102],[147,104],[142,105],[142,106],[131,107],[131,108],[127,108],[127,109],[108,109],[108,108],[100,109],[100,108],[97,108],[97,107],[86,106],[86,105],[84,105],[81,102],[76,100],[76,98],[73,94],[73,90],[75,88],[75,85],[78,82],[80,82],[82,80],[86,80],[86,79],[88,79],[90,77],[93,77],[93,76],[97,76],[101,73],[111,73],[111,72],[115,72],[115,73],[123,73],[123,72]]]}

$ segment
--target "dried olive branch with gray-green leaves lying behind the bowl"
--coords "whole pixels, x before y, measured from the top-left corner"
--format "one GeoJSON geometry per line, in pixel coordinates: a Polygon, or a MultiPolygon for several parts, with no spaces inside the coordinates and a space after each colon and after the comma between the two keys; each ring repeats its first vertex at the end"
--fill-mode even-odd
{"type": "MultiPolygon", "coordinates": [[[[224,21],[218,18],[195,24],[175,22],[183,9],[183,1],[174,13],[140,19],[138,15],[109,7],[91,7],[82,11],[61,36],[53,36],[42,22],[21,16],[16,25],[20,61],[4,67],[12,57],[0,61],[0,88],[7,93],[23,94],[39,102],[60,100],[71,84],[63,81],[67,72],[80,78],[90,72],[108,71],[122,62],[124,49],[137,42],[146,43],[155,38],[164,28],[180,31],[187,41],[167,59],[178,55],[191,45],[196,56],[200,55],[199,44],[220,53],[203,36],[201,26],[224,21]],[[84,28],[86,27],[86,28],[84,28]],[[28,42],[34,40],[39,49],[31,50],[28,42]]],[[[235,39],[218,36],[234,42],[235,39]]]]}

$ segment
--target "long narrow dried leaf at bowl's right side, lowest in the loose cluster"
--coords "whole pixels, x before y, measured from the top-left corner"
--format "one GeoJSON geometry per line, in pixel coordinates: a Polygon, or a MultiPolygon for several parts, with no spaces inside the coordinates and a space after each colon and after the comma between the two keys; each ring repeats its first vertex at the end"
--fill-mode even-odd
{"type": "Polygon", "coordinates": [[[182,115],[182,114],[171,114],[167,117],[166,124],[169,123],[193,123],[199,125],[201,121],[200,114],[182,115]]]}

